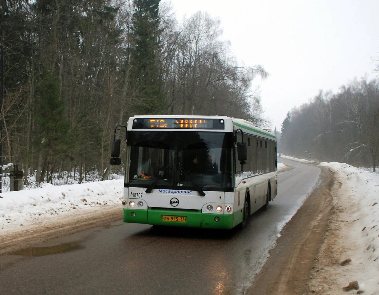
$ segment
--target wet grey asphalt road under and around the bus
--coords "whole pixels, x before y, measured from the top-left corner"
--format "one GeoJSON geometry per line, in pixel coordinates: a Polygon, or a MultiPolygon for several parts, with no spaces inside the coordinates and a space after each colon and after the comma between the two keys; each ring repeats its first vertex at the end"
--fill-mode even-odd
{"type": "Polygon", "coordinates": [[[294,169],[279,173],[278,196],[243,230],[117,221],[0,256],[0,294],[240,294],[320,174],[279,161],[294,169]]]}

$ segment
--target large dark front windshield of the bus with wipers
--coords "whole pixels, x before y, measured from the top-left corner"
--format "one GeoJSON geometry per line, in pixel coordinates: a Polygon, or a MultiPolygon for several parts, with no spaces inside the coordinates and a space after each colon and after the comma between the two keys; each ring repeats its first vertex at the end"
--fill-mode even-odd
{"type": "Polygon", "coordinates": [[[233,133],[130,131],[129,185],[222,191],[233,187],[233,133]]]}

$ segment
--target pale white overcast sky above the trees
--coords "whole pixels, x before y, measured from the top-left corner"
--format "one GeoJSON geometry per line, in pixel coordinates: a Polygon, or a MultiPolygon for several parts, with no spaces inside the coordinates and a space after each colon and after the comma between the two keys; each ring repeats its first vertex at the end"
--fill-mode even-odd
{"type": "MultiPolygon", "coordinates": [[[[169,1],[169,0],[162,0],[169,1]]],[[[258,78],[266,115],[280,130],[288,110],[320,89],[338,91],[354,77],[373,79],[379,55],[379,0],[171,0],[180,20],[207,11],[221,20],[221,39],[258,78]]]]}

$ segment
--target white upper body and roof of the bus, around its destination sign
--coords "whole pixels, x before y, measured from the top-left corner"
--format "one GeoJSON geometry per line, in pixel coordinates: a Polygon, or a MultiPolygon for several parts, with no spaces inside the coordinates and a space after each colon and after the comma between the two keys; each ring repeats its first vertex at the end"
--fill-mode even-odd
{"type": "MultiPolygon", "coordinates": [[[[230,118],[227,116],[199,116],[199,115],[136,115],[132,116],[128,120],[128,126],[127,130],[131,131],[147,131],[145,128],[132,128],[133,126],[133,120],[139,119],[139,118],[146,118],[146,119],[222,119],[225,122],[225,128],[224,129],[196,129],[198,131],[215,131],[215,132],[234,132],[236,129],[242,129],[243,133],[255,135],[258,137],[263,137],[270,140],[276,140],[276,136],[268,132],[264,129],[258,128],[254,126],[251,122],[246,121],[244,119],[238,119],[238,118],[230,118]]],[[[152,130],[152,129],[150,129],[152,130]]],[[[154,128],[155,131],[194,131],[195,129],[169,129],[169,128],[154,128]]]]}

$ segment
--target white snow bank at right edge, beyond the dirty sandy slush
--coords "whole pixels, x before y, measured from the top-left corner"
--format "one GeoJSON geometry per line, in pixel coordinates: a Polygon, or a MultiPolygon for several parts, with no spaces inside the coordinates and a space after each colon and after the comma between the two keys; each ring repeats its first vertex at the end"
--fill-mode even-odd
{"type": "Polygon", "coordinates": [[[346,244],[351,242],[358,249],[352,253],[350,271],[360,289],[371,294],[379,290],[379,175],[345,163],[320,165],[329,167],[341,182],[338,195],[342,197],[338,202],[344,202],[346,207],[351,202],[354,205],[346,216],[346,222],[353,224],[346,244]]]}

